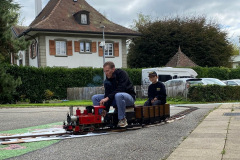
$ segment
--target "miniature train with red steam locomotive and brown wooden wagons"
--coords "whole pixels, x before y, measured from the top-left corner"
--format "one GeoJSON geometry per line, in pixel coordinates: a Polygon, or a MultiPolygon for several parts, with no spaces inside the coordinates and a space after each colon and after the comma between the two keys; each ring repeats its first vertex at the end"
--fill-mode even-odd
{"type": "MultiPolygon", "coordinates": [[[[77,108],[76,114],[73,115],[73,107],[70,107],[70,113],[67,115],[67,121],[63,123],[63,128],[73,133],[81,133],[84,131],[92,132],[106,127],[117,128],[118,114],[116,112],[107,113],[107,115],[103,117],[101,115],[103,109],[105,109],[105,106],[87,106],[83,113],[77,108]]],[[[132,108],[126,109],[128,127],[159,123],[169,117],[169,104],[133,106],[132,108]]]]}

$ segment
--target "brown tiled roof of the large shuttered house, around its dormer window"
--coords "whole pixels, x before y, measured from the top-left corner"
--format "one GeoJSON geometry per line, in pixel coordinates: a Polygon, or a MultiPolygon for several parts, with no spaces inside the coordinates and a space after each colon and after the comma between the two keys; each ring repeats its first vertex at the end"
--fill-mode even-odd
{"type": "Polygon", "coordinates": [[[40,14],[30,24],[29,31],[53,31],[73,33],[102,34],[100,25],[105,26],[105,33],[112,35],[139,36],[140,33],[109,21],[85,0],[50,0],[40,14]],[[88,11],[89,25],[78,24],[73,15],[79,11],[88,11]]]}

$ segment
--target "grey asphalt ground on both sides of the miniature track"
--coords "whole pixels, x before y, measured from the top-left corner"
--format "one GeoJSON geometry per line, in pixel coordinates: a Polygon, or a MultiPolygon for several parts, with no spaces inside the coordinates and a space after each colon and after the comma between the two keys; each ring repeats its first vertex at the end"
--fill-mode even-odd
{"type": "MultiPolygon", "coordinates": [[[[159,160],[171,152],[194,130],[205,115],[219,104],[188,105],[199,109],[185,118],[161,126],[142,128],[108,135],[62,140],[49,147],[11,158],[17,160],[159,160]]],[[[171,115],[186,108],[171,107],[171,115]]],[[[0,130],[18,129],[63,121],[68,108],[1,109],[5,123],[0,130]],[[22,111],[22,112],[21,112],[22,111]],[[7,113],[6,113],[7,112],[7,113]],[[19,121],[16,122],[16,116],[19,121]],[[5,129],[3,127],[5,126],[5,129]]]]}

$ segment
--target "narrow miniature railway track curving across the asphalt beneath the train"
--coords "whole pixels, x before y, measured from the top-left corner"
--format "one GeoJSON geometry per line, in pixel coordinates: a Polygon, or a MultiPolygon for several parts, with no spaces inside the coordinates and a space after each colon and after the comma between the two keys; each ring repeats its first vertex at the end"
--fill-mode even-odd
{"type": "MultiPolygon", "coordinates": [[[[178,119],[182,119],[184,118],[187,114],[197,110],[197,107],[189,107],[189,106],[179,106],[179,107],[185,107],[188,108],[182,112],[179,112],[169,118],[167,118],[164,121],[160,121],[158,123],[152,123],[152,124],[136,124],[136,125],[129,125],[126,128],[102,128],[100,130],[95,130],[91,133],[93,134],[104,134],[104,133],[113,133],[113,132],[124,132],[124,131],[129,131],[129,130],[137,130],[137,129],[141,129],[141,128],[145,128],[145,127],[152,127],[152,126],[160,126],[160,125],[164,125],[170,122],[173,122],[174,120],[178,120],[178,119]]],[[[89,132],[85,131],[85,132],[81,132],[77,135],[87,135],[89,132]]],[[[29,135],[16,135],[16,136],[0,136],[0,144],[14,144],[14,143],[24,143],[25,139],[34,139],[34,138],[38,138],[38,137],[62,137],[60,139],[64,139],[64,137],[71,137],[73,136],[73,133],[71,132],[63,132],[63,133],[46,133],[46,134],[29,134],[29,135]],[[11,141],[12,139],[17,139],[15,142],[11,141]]]]}

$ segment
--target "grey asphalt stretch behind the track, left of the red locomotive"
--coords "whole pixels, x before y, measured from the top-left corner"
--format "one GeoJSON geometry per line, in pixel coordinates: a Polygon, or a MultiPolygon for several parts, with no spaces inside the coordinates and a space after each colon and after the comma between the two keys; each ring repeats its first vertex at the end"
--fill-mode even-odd
{"type": "Polygon", "coordinates": [[[1,108],[0,131],[63,122],[68,111],[68,107],[1,108]]]}

